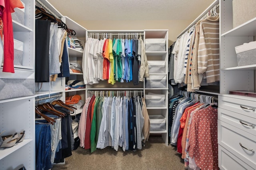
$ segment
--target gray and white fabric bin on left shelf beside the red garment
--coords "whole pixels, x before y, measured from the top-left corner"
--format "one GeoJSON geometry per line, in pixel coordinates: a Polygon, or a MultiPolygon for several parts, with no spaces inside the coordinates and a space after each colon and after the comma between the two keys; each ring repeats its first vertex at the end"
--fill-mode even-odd
{"type": "Polygon", "coordinates": [[[23,42],[14,39],[14,65],[22,66],[23,42]]]}

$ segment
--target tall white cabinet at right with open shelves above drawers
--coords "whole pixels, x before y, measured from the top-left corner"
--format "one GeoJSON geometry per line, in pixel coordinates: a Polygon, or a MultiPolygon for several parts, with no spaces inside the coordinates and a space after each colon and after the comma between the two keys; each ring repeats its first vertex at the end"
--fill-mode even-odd
{"type": "Polygon", "coordinates": [[[232,1],[220,0],[219,167],[255,169],[256,99],[228,91],[254,90],[255,65],[238,66],[235,47],[254,41],[256,18],[235,28],[232,20],[232,1]]]}

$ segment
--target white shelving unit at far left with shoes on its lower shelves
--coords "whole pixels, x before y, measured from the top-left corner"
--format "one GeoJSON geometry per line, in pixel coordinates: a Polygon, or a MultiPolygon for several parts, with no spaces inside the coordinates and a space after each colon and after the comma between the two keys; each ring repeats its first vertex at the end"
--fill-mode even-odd
{"type": "MultiPolygon", "coordinates": [[[[25,4],[25,23],[12,21],[14,39],[24,43],[22,65],[14,65],[15,73],[2,72],[0,79],[34,79],[35,63],[35,2],[22,0],[25,4]]],[[[2,41],[2,40],[1,40],[2,41]]],[[[25,130],[25,139],[10,148],[0,148],[0,169],[35,169],[35,96],[0,100],[0,132],[4,135],[25,130]]]]}

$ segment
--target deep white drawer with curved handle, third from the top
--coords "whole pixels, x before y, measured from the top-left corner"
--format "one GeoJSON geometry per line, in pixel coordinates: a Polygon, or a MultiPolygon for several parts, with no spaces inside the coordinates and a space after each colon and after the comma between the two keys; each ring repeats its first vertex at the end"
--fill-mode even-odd
{"type": "Polygon", "coordinates": [[[256,167],[256,136],[218,120],[218,144],[249,166],[256,167]]]}

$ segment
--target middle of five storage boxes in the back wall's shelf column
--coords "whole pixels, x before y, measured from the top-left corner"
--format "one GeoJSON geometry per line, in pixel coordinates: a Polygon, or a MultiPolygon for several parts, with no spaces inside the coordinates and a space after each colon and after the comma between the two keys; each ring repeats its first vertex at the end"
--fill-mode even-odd
{"type": "Polygon", "coordinates": [[[150,75],[145,80],[145,88],[166,88],[166,75],[150,75]]]}

